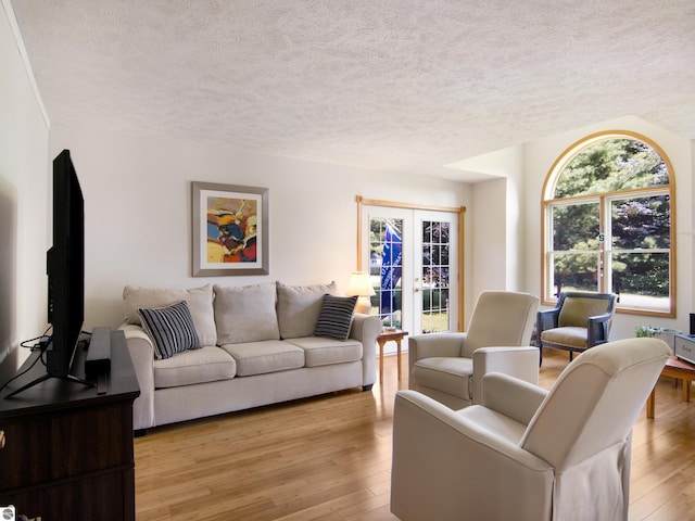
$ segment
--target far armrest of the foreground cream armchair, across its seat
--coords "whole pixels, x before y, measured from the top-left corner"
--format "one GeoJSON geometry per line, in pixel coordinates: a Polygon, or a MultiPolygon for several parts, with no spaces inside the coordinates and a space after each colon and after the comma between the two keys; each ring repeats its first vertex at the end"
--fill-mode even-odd
{"type": "Polygon", "coordinates": [[[528,425],[547,391],[518,378],[491,372],[483,377],[482,406],[528,425]]]}

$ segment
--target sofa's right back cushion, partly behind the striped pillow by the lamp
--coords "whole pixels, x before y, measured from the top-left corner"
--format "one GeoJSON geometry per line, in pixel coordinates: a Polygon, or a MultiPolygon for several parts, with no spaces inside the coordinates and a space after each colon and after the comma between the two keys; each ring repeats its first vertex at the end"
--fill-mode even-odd
{"type": "Polygon", "coordinates": [[[316,285],[277,283],[278,325],[281,339],[311,336],[321,313],[324,295],[336,294],[336,282],[316,285]]]}

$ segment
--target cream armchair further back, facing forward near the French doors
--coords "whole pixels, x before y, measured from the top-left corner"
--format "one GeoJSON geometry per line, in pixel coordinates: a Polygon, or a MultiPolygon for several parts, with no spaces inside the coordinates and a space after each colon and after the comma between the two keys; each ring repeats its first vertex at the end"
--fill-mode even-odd
{"type": "Polygon", "coordinates": [[[408,339],[408,387],[460,409],[479,403],[482,377],[504,372],[539,381],[539,350],[530,346],[536,296],[484,291],[465,333],[432,333],[408,339]]]}

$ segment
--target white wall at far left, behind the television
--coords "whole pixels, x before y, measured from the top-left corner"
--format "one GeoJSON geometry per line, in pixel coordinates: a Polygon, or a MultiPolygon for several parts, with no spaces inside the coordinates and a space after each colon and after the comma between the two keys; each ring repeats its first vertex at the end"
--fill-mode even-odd
{"type": "Polygon", "coordinates": [[[48,123],[0,9],[0,385],[28,355],[24,340],[46,329],[48,123]]]}

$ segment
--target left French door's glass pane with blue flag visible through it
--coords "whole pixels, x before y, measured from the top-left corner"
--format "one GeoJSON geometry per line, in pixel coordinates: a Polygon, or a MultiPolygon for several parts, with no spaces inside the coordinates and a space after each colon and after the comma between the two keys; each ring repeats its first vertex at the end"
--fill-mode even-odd
{"type": "Polygon", "coordinates": [[[402,325],[402,237],[403,219],[369,219],[369,276],[376,293],[371,305],[387,328],[402,325]]]}

